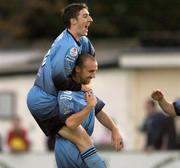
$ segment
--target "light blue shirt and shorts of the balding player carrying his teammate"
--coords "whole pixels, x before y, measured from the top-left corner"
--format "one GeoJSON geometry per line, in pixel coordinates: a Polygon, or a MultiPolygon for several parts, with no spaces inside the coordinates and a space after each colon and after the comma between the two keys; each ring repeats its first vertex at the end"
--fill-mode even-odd
{"type": "MultiPolygon", "coordinates": [[[[84,92],[63,91],[58,95],[60,116],[64,121],[73,113],[80,112],[86,107],[84,92]]],[[[82,126],[91,136],[94,130],[95,110],[93,109],[84,119],[82,126]]],[[[55,156],[58,168],[86,168],[87,165],[81,158],[77,147],[64,138],[57,138],[55,145],[55,156]]]]}

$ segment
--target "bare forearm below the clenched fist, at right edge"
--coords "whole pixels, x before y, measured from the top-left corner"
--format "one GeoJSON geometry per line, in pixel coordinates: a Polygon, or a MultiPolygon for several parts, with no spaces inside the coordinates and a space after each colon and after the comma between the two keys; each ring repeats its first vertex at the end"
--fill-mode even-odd
{"type": "Polygon", "coordinates": [[[167,102],[164,98],[158,101],[158,103],[164,112],[166,112],[170,116],[176,116],[173,104],[167,102]]]}

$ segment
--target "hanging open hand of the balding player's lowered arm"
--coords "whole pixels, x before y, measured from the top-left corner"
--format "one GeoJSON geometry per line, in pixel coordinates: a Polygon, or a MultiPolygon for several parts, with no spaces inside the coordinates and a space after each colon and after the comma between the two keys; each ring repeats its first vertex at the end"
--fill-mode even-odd
{"type": "Polygon", "coordinates": [[[123,139],[118,128],[114,128],[112,130],[111,143],[115,147],[116,151],[120,151],[124,147],[123,139]]]}

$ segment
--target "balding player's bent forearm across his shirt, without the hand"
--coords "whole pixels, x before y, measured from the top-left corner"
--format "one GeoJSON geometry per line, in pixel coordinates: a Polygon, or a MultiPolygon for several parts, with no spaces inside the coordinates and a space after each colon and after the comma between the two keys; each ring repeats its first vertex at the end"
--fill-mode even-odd
{"type": "Polygon", "coordinates": [[[92,109],[92,106],[86,106],[82,111],[72,114],[67,118],[66,126],[70,129],[76,129],[92,109]]]}

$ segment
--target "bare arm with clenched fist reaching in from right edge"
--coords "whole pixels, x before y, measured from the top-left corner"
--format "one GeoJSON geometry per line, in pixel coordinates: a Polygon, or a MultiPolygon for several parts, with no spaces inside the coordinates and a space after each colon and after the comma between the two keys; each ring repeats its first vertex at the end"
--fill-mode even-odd
{"type": "Polygon", "coordinates": [[[151,94],[151,97],[158,102],[159,106],[162,108],[164,112],[166,112],[168,115],[174,117],[176,116],[175,106],[172,103],[169,103],[163,93],[159,90],[153,91],[151,94]]]}

